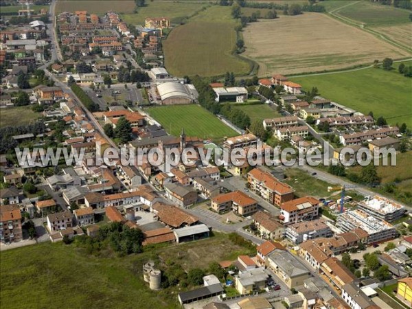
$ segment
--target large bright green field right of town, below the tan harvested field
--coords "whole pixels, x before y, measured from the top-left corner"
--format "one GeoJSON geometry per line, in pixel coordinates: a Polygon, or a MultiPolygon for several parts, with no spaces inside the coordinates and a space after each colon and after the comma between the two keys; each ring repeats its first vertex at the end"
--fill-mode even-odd
{"type": "Polygon", "coordinates": [[[409,128],[412,127],[411,79],[396,70],[371,68],[291,79],[304,89],[317,87],[323,97],[361,113],[373,111],[375,117],[386,117],[390,124],[405,122],[409,128]]]}

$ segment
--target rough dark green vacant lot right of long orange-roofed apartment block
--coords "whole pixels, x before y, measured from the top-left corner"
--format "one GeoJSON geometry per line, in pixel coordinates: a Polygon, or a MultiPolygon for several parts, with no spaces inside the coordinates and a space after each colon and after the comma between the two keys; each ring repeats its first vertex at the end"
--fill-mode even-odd
{"type": "Polygon", "coordinates": [[[297,168],[287,168],[285,174],[288,177],[285,183],[292,186],[295,189],[295,195],[299,197],[309,195],[325,198],[331,195],[328,192],[330,184],[310,176],[308,172],[298,170],[297,168]]]}

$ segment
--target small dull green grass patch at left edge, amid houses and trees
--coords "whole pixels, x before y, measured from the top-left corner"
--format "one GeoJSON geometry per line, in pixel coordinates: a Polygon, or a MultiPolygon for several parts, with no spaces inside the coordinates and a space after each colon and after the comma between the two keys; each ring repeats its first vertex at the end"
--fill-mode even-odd
{"type": "Polygon", "coordinates": [[[41,117],[41,114],[32,111],[30,106],[20,106],[0,109],[0,127],[21,126],[30,124],[41,117]]]}

